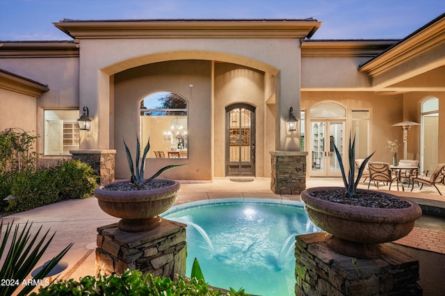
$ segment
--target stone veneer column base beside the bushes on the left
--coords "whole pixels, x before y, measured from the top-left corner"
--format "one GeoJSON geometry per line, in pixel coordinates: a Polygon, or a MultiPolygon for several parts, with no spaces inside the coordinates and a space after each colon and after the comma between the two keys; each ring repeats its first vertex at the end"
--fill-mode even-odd
{"type": "Polygon", "coordinates": [[[115,154],[114,149],[70,150],[72,159],[87,163],[100,177],[99,185],[114,181],[115,154]]]}

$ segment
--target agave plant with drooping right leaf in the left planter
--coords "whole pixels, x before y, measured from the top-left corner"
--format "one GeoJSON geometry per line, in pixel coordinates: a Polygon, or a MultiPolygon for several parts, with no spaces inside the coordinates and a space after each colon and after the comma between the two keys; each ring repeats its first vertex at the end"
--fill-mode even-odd
{"type": "Polygon", "coordinates": [[[133,157],[131,156],[130,149],[128,148],[127,143],[125,143],[125,140],[124,140],[124,146],[125,146],[125,151],[127,151],[127,161],[131,173],[131,183],[135,184],[138,187],[138,189],[142,189],[145,183],[149,183],[154,178],[156,178],[156,176],[159,176],[162,172],[170,170],[174,167],[181,166],[181,165],[167,165],[161,168],[161,170],[156,172],[156,174],[154,174],[153,176],[149,177],[148,179],[144,179],[145,158],[147,158],[147,154],[150,149],[150,139],[148,138],[147,145],[145,145],[145,149],[143,152],[143,156],[142,158],[140,158],[140,142],[139,138],[136,136],[136,159],[135,159],[136,170],[133,163],[133,157]]]}

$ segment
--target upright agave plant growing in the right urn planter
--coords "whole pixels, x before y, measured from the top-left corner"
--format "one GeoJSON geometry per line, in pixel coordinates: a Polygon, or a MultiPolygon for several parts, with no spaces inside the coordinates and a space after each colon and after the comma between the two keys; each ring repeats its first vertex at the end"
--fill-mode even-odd
{"type": "Polygon", "coordinates": [[[362,165],[360,165],[359,167],[359,172],[357,174],[357,179],[355,179],[354,181],[354,175],[355,175],[355,135],[354,135],[354,140],[353,143],[351,145],[350,142],[350,136],[349,136],[349,147],[348,147],[348,151],[349,151],[349,172],[348,172],[348,180],[346,180],[346,173],[345,173],[345,168],[343,167],[343,160],[341,159],[341,154],[339,152],[339,149],[337,149],[337,146],[332,143],[334,145],[334,149],[335,149],[335,154],[337,154],[337,159],[339,160],[339,165],[340,165],[340,170],[341,170],[341,176],[343,177],[343,183],[345,185],[345,190],[346,190],[346,195],[349,197],[353,197],[355,196],[355,192],[357,191],[357,186],[359,185],[359,181],[362,178],[362,174],[364,171],[364,168],[366,167],[366,163],[368,163],[369,158],[371,158],[371,156],[373,156],[373,154],[375,153],[375,151],[368,157],[366,157],[362,163],[362,165]]]}

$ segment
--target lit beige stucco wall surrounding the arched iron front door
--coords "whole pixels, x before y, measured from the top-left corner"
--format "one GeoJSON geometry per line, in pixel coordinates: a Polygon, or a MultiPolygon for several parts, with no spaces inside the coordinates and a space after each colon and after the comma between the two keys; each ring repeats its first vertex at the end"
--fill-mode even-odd
{"type": "Polygon", "coordinates": [[[215,63],[215,176],[225,176],[225,107],[234,103],[256,108],[255,172],[264,177],[264,72],[229,63],[215,63]]]}

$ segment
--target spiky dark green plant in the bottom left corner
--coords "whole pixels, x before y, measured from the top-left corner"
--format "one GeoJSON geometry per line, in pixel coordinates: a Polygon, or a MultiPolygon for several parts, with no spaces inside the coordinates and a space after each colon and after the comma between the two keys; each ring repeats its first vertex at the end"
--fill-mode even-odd
{"type": "MultiPolygon", "coordinates": [[[[63,256],[72,247],[72,243],[65,247],[57,256],[51,259],[49,263],[44,265],[44,268],[38,272],[38,274],[33,277],[33,281],[26,281],[26,277],[33,270],[35,265],[38,263],[45,250],[49,246],[49,243],[54,238],[54,234],[45,243],[49,230],[44,233],[44,236],[37,240],[42,227],[35,233],[33,238],[31,238],[30,229],[32,226],[26,222],[24,229],[19,231],[19,224],[15,226],[12,238],[10,238],[11,231],[13,229],[14,222],[6,226],[6,231],[3,235],[1,246],[0,246],[0,258],[3,257],[3,252],[5,252],[8,240],[10,240],[10,246],[8,253],[4,258],[3,265],[0,270],[0,279],[8,280],[8,285],[3,285],[0,289],[0,295],[12,295],[15,290],[19,287],[24,287],[17,293],[17,295],[27,295],[35,288],[35,284],[38,280],[47,277],[49,271],[51,271],[57,263],[62,259],[63,256]],[[31,239],[31,240],[30,240],[31,239]],[[26,281],[26,285],[23,285],[26,281]]],[[[3,230],[3,221],[0,224],[0,233],[3,230]]],[[[1,235],[1,234],[0,234],[1,235]]]]}

